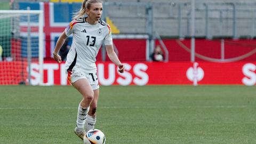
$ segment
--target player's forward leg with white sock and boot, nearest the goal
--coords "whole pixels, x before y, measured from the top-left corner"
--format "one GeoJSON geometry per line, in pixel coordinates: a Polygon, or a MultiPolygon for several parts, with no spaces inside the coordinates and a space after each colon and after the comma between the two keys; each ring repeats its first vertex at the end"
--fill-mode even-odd
{"type": "Polygon", "coordinates": [[[82,101],[79,103],[77,110],[77,121],[75,127],[75,133],[79,138],[84,137],[84,123],[86,115],[89,111],[89,106],[93,100],[93,90],[90,83],[86,78],[78,79],[73,86],[83,95],[82,101]]]}

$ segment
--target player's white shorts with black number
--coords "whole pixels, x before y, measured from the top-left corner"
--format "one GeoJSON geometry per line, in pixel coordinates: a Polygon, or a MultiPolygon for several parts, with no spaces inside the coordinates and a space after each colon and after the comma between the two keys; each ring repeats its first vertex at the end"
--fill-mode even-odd
{"type": "Polygon", "coordinates": [[[92,86],[92,90],[99,89],[97,73],[83,73],[82,71],[66,71],[66,76],[70,84],[75,83],[78,79],[85,78],[92,86]]]}

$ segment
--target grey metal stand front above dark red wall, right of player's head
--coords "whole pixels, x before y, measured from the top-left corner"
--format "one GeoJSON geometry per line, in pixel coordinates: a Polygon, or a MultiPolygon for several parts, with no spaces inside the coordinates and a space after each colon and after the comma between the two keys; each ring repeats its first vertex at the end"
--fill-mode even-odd
{"type": "MultiPolygon", "coordinates": [[[[151,53],[155,39],[161,42],[163,37],[254,38],[256,37],[255,6],[256,2],[195,1],[193,14],[190,2],[106,2],[103,13],[115,23],[121,34],[147,34],[150,43],[147,49],[151,53]],[[195,15],[194,18],[192,15],[195,15]],[[192,27],[193,23],[195,27],[192,27]]],[[[166,46],[162,44],[162,47],[165,51],[166,46]]],[[[192,61],[194,57],[191,52],[192,61]]]]}

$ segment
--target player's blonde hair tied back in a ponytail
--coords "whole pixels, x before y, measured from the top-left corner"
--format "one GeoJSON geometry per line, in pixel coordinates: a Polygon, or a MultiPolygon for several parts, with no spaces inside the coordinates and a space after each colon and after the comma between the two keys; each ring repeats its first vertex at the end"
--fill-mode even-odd
{"type": "Polygon", "coordinates": [[[84,0],[81,6],[81,9],[78,12],[73,13],[73,19],[79,19],[84,17],[85,10],[90,9],[91,4],[102,3],[101,0],[84,0]]]}

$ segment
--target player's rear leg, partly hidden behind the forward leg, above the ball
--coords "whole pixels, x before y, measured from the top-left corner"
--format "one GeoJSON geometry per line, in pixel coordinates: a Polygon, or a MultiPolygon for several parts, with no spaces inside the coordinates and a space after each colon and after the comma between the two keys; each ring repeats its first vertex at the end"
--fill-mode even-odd
{"type": "Polygon", "coordinates": [[[99,89],[93,90],[93,92],[94,92],[93,100],[85,120],[85,132],[94,129],[94,126],[96,123],[96,109],[97,109],[97,103],[99,99],[99,89]]]}

